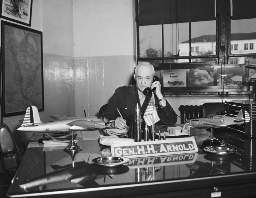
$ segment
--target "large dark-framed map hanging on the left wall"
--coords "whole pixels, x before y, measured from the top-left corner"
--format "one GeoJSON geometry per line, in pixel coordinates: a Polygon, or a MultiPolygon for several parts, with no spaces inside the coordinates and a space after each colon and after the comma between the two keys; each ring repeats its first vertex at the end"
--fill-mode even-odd
{"type": "Polygon", "coordinates": [[[2,116],[44,111],[42,32],[1,21],[2,116]]]}

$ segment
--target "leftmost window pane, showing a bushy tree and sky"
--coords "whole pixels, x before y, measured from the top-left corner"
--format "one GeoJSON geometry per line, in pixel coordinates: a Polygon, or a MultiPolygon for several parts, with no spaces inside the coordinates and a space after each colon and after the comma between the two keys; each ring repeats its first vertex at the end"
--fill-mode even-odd
{"type": "Polygon", "coordinates": [[[162,28],[161,25],[139,27],[140,57],[162,57],[162,28]]]}

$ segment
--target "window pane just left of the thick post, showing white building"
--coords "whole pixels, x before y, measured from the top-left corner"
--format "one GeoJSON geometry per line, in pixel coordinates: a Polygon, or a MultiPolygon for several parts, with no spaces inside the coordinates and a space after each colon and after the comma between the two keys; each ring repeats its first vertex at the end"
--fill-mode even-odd
{"type": "Polygon", "coordinates": [[[191,55],[216,54],[216,21],[191,23],[191,55]]]}

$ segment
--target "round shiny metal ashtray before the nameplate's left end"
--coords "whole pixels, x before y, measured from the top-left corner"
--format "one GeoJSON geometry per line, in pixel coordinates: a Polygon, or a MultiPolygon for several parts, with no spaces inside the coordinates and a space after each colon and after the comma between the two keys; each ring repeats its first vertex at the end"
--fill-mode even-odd
{"type": "Polygon", "coordinates": [[[118,156],[103,156],[103,157],[97,157],[93,159],[93,163],[101,166],[107,166],[107,167],[119,166],[121,164],[125,164],[128,161],[129,161],[129,158],[118,157],[118,156]]]}

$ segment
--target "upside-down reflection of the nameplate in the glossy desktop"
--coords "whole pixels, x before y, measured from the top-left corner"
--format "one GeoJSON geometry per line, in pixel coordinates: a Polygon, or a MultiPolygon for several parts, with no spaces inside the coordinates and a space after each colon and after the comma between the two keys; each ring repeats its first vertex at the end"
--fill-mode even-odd
{"type": "Polygon", "coordinates": [[[170,166],[180,164],[192,164],[196,161],[198,153],[186,153],[179,155],[164,155],[155,157],[131,158],[125,165],[129,168],[145,168],[153,166],[170,166]]]}

